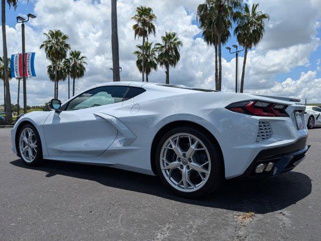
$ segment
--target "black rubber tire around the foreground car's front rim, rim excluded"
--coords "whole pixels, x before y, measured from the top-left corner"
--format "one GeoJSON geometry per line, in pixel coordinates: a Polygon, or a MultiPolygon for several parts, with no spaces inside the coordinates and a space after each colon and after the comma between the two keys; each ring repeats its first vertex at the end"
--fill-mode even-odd
{"type": "Polygon", "coordinates": [[[39,134],[38,134],[38,132],[37,132],[37,130],[36,130],[36,128],[35,128],[34,126],[32,126],[32,125],[30,125],[30,124],[27,124],[27,125],[25,125],[25,126],[23,126],[23,127],[21,128],[21,130],[19,131],[18,145],[17,145],[17,146],[18,146],[18,150],[17,150],[18,155],[21,157],[21,160],[22,160],[27,166],[40,166],[40,165],[42,165],[42,164],[44,163],[43,155],[42,155],[41,140],[40,140],[39,134]],[[36,137],[36,140],[37,140],[37,148],[36,148],[36,149],[37,149],[37,153],[36,153],[35,159],[34,159],[33,161],[31,161],[31,162],[27,162],[27,161],[23,158],[23,156],[22,156],[22,154],[21,154],[21,151],[20,151],[20,145],[21,145],[21,143],[20,143],[20,136],[21,136],[22,132],[25,131],[27,128],[31,129],[31,130],[34,132],[35,137],[36,137]]]}

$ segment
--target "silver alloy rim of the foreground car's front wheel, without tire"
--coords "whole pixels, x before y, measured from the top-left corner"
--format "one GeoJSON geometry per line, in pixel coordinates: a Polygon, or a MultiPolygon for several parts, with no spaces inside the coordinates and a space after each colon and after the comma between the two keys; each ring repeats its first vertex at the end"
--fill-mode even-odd
{"type": "Polygon", "coordinates": [[[19,150],[25,162],[31,163],[37,155],[37,138],[30,128],[24,129],[19,138],[19,150]]]}

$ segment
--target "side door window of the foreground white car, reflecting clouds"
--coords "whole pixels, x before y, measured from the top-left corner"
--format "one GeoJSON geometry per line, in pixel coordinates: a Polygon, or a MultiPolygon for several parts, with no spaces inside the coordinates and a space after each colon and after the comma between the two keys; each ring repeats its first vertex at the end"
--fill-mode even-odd
{"type": "Polygon", "coordinates": [[[102,86],[88,90],[72,99],[66,110],[77,110],[123,101],[127,86],[102,86]]]}

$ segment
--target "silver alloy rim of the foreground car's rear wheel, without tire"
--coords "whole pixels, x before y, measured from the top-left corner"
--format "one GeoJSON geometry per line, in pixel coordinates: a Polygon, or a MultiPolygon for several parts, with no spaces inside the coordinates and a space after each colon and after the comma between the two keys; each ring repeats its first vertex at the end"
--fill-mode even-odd
{"type": "Polygon", "coordinates": [[[211,159],[206,146],[188,133],[175,134],[164,143],[160,162],[168,183],[183,192],[200,189],[211,172],[211,159]]]}

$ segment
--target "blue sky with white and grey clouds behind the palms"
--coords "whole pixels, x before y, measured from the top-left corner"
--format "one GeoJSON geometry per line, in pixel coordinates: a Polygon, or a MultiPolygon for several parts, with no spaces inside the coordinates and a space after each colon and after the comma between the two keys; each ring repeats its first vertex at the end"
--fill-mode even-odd
{"type": "MultiPolygon", "coordinates": [[[[161,42],[166,31],[177,32],[183,41],[181,60],[170,68],[170,83],[213,89],[214,48],[201,38],[196,10],[203,0],[118,0],[118,38],[122,81],[140,81],[141,74],[132,54],[141,39],[134,39],[131,17],[136,7],[153,9],[157,17],[156,34],[149,36],[153,43],[161,42]]],[[[244,92],[288,96],[321,102],[321,0],[247,0],[259,3],[259,10],[268,13],[266,32],[256,48],[248,53],[244,92]]],[[[86,74],[76,80],[76,93],[92,85],[112,81],[110,0],[25,0],[19,1],[16,11],[7,6],[8,54],[21,52],[21,25],[18,15],[37,16],[26,23],[26,52],[36,52],[37,77],[27,80],[27,104],[42,105],[54,94],[54,83],[47,75],[44,50],[39,46],[45,40],[43,33],[60,29],[69,36],[73,50],[87,57],[86,74]]],[[[2,39],[2,33],[0,33],[2,39]]],[[[238,44],[231,37],[222,46],[222,90],[235,88],[235,55],[227,46],[238,44]]],[[[2,41],[0,56],[3,55],[2,41]]],[[[243,53],[239,57],[240,73],[243,53]]],[[[149,76],[149,82],[165,83],[165,69],[158,67],[149,76]]],[[[17,103],[18,81],[10,81],[12,102],[17,103]]],[[[22,88],[21,88],[22,93],[22,88]]],[[[59,84],[59,98],[68,97],[68,80],[59,84]]],[[[0,104],[4,102],[3,84],[0,85],[0,104]]],[[[21,94],[21,99],[22,94],[21,94]]],[[[22,101],[20,102],[22,105],[22,101]]]]}

